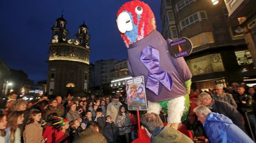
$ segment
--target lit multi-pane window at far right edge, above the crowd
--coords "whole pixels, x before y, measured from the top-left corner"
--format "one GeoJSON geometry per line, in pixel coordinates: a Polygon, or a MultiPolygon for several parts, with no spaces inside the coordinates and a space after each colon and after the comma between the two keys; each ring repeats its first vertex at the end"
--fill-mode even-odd
{"type": "Polygon", "coordinates": [[[235,52],[235,54],[236,54],[236,60],[237,60],[238,65],[253,63],[251,53],[248,50],[237,51],[237,52],[235,52]]]}

